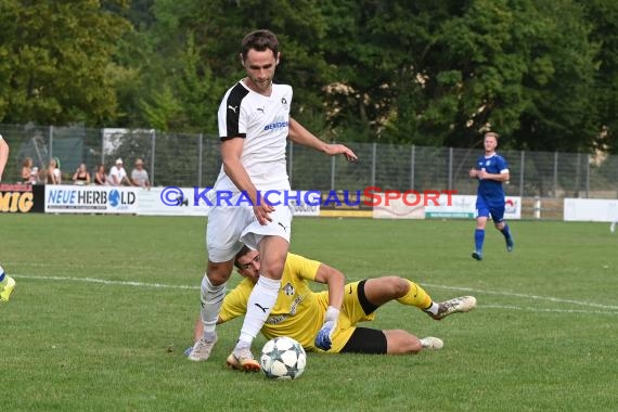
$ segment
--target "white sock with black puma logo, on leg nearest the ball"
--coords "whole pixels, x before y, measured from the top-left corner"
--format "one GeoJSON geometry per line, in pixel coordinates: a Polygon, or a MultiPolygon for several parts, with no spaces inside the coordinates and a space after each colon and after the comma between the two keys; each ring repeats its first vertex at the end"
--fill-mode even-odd
{"type": "Polygon", "coordinates": [[[268,319],[272,307],[276,302],[276,295],[281,281],[259,276],[247,302],[247,313],[241,329],[241,337],[236,347],[247,347],[257,336],[263,322],[268,319]]]}

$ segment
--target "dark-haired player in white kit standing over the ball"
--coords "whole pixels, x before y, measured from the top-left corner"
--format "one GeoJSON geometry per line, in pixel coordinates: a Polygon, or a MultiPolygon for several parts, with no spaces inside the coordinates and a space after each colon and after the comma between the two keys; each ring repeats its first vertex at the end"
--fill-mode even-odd
{"type": "MultiPolygon", "coordinates": [[[[289,191],[285,163],[287,139],[327,155],[343,154],[356,160],[356,154],[343,144],[327,144],[289,117],[292,87],[274,85],[272,78],[281,53],[274,34],[257,30],[242,41],[241,64],[247,77],[224,94],[219,106],[219,136],[222,166],[214,189],[208,215],[206,244],[208,266],[202,281],[201,317],[203,337],[195,343],[189,359],[208,359],[217,342],[215,330],[226,296],[226,282],[243,243],[259,250],[260,278],[254,287],[239,342],[228,357],[229,366],[259,371],[250,352],[275,304],[289,247],[292,210],[284,193],[289,191]],[[268,201],[263,196],[270,192],[268,201]],[[221,202],[218,194],[231,194],[221,202]]],[[[326,332],[331,332],[340,302],[330,307],[326,332]]],[[[322,331],[324,333],[324,331],[322,331]]]]}

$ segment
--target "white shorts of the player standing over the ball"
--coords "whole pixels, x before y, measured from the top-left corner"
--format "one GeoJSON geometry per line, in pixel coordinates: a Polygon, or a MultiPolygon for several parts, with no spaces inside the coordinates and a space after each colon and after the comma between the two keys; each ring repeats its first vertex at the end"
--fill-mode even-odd
{"type": "Polygon", "coordinates": [[[261,226],[252,206],[213,207],[208,213],[206,227],[208,260],[213,262],[232,260],[243,244],[257,249],[263,236],[280,236],[289,243],[292,208],[283,204],[274,206],[270,217],[272,221],[261,226]]]}

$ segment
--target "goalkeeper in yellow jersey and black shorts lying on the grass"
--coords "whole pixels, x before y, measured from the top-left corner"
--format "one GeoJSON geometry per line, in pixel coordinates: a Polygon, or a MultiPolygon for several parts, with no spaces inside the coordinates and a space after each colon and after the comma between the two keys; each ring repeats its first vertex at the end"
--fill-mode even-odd
{"type": "MultiPolygon", "coordinates": [[[[257,282],[259,254],[244,247],[234,261],[243,281],[223,300],[218,323],[244,316],[248,296],[257,282]]],[[[270,339],[289,336],[306,350],[322,351],[316,337],[324,324],[330,291],[312,292],[308,282],[329,285],[344,284],[338,270],[302,256],[288,254],[285,261],[276,304],[261,329],[270,339]]],[[[374,330],[357,326],[357,323],[375,319],[375,310],[390,300],[417,307],[433,319],[440,320],[455,312],[467,312],[476,306],[472,296],[458,297],[445,302],[434,302],[417,284],[399,276],[383,276],[348,283],[344,287],[343,305],[330,338],[329,352],[358,353],[415,353],[422,349],[440,349],[442,340],[436,337],[419,339],[403,330],[374,330]]],[[[196,323],[195,339],[202,336],[202,322],[196,323]]],[[[320,345],[324,346],[324,345],[320,345]]]]}

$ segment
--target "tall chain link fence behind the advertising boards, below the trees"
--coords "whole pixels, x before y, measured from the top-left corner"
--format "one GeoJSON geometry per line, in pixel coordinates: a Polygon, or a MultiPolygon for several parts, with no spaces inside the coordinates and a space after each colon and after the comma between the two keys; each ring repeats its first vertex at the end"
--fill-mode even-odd
{"type": "MultiPolygon", "coordinates": [[[[30,157],[39,170],[52,157],[61,162],[63,182],[70,182],[80,163],[94,173],[124,159],[130,173],[142,158],[153,185],[208,186],[219,173],[221,158],[216,136],[156,130],[88,129],[81,127],[0,125],[11,146],[3,180],[20,182],[22,164],[30,157]]],[[[288,144],[288,175],[299,190],[456,190],[475,194],[468,170],[480,149],[426,147],[378,143],[346,143],[360,157],[347,163],[300,145],[288,144]]],[[[583,153],[500,152],[508,162],[512,196],[617,198],[618,156],[583,153]]]]}

